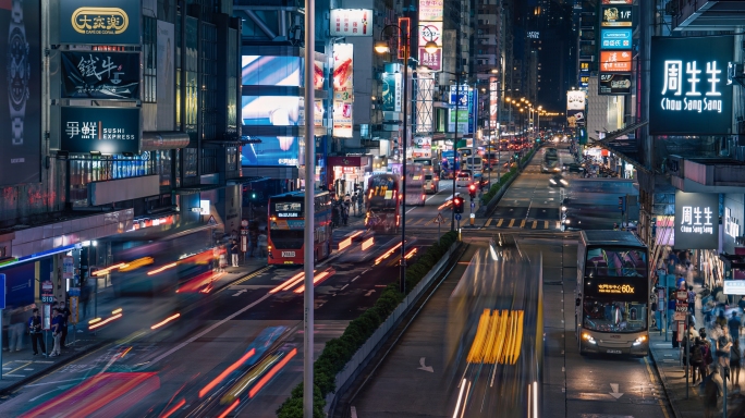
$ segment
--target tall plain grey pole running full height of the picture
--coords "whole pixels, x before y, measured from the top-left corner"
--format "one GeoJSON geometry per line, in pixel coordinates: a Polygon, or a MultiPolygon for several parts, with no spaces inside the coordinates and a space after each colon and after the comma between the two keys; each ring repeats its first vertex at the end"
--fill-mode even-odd
{"type": "Polygon", "coordinates": [[[316,52],[316,2],[305,0],[305,232],[303,235],[303,270],[305,271],[305,299],[303,307],[303,417],[313,418],[313,333],[314,333],[314,228],[315,214],[315,158],[316,158],[316,126],[314,123],[315,91],[314,65],[316,52]]]}

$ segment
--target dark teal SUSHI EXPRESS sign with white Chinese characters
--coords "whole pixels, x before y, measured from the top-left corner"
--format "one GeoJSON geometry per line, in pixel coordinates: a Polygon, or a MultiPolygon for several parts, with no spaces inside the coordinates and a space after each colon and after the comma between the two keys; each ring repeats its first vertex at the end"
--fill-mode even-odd
{"type": "Polygon", "coordinates": [[[69,152],[139,153],[139,108],[60,108],[60,148],[69,152]]]}

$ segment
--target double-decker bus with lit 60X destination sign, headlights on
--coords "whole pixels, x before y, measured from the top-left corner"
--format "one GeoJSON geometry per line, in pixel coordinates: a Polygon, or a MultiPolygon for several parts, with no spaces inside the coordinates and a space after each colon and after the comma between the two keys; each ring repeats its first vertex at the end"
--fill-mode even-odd
{"type": "Polygon", "coordinates": [[[649,250],[628,231],[582,231],[575,327],[579,354],[649,352],[649,250]]]}

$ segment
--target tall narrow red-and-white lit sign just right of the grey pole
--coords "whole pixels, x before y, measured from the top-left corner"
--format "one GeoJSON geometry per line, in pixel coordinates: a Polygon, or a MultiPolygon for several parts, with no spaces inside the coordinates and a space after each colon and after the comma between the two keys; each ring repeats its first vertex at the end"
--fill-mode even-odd
{"type": "Polygon", "coordinates": [[[354,121],[354,46],[334,44],[333,46],[333,136],[353,137],[354,121]]]}

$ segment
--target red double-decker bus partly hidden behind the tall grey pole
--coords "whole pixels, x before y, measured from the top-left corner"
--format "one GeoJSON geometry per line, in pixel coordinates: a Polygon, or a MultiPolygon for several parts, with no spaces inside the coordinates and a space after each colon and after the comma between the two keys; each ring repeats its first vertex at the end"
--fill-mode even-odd
{"type": "MultiPolygon", "coordinates": [[[[331,254],[331,195],[316,192],[313,221],[314,260],[331,254]]],[[[286,193],[269,198],[269,231],[267,251],[270,265],[303,265],[303,234],[305,223],[305,192],[286,193]]]]}

